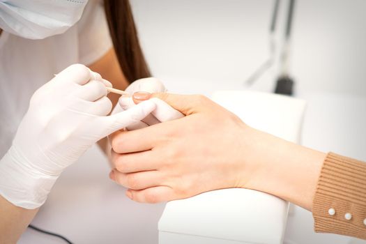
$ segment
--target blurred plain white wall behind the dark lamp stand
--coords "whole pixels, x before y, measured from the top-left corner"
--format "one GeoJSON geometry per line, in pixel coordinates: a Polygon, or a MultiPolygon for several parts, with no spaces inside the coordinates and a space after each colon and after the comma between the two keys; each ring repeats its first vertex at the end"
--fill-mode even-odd
{"type": "MultiPolygon", "coordinates": [[[[151,70],[171,89],[196,92],[199,83],[245,88],[243,80],[268,56],[274,0],[131,3],[151,70]]],[[[366,1],[298,0],[295,8],[291,72],[297,91],[366,96],[366,1]]],[[[278,39],[286,11],[282,1],[278,39]]],[[[272,71],[257,88],[272,87],[272,71]]]]}

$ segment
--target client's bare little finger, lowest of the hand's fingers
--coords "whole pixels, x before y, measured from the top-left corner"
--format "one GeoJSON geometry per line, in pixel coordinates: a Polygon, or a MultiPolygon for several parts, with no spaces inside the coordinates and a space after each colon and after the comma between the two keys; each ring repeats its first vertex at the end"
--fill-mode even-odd
{"type": "Polygon", "coordinates": [[[174,199],[174,191],[169,186],[156,186],[144,190],[131,190],[126,192],[127,197],[141,203],[156,204],[161,201],[174,199]]]}

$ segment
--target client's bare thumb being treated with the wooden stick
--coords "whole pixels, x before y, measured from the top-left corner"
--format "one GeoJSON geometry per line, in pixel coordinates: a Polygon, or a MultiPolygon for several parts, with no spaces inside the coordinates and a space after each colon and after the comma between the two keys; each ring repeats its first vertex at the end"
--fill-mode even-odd
{"type": "Polygon", "coordinates": [[[205,105],[209,101],[208,98],[202,95],[178,95],[171,93],[141,94],[137,92],[133,94],[132,98],[136,104],[149,98],[159,98],[184,115],[195,114],[204,110],[205,105]]]}

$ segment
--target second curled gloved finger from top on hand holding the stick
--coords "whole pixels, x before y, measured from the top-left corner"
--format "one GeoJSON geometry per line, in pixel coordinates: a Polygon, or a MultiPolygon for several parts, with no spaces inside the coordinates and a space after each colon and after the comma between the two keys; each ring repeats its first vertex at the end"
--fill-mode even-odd
{"type": "Polygon", "coordinates": [[[87,101],[96,101],[103,96],[107,96],[107,89],[105,84],[97,80],[91,80],[90,82],[80,86],[77,91],[75,91],[75,96],[82,98],[87,101]]]}

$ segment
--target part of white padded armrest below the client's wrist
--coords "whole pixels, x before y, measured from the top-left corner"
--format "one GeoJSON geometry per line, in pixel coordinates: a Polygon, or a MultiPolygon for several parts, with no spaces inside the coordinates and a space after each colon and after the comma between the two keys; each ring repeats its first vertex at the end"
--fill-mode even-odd
{"type": "Polygon", "coordinates": [[[170,201],[159,229],[245,243],[282,243],[287,208],[286,201],[263,192],[215,190],[170,201]]]}

